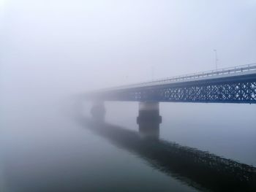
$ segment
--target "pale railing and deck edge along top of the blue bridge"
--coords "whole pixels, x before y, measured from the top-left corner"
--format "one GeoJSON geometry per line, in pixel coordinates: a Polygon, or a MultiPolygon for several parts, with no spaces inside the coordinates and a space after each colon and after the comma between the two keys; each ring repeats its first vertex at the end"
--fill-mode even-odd
{"type": "MultiPolygon", "coordinates": [[[[174,77],[167,77],[163,79],[153,80],[153,81],[146,81],[146,82],[139,82],[131,85],[121,85],[115,88],[108,88],[107,90],[113,90],[113,89],[122,89],[122,88],[134,88],[138,87],[140,85],[146,86],[146,85],[156,85],[159,84],[159,82],[178,82],[178,81],[184,81],[184,80],[191,80],[191,79],[197,79],[202,77],[214,77],[222,74],[238,74],[242,72],[248,72],[256,70],[256,63],[255,64],[246,64],[241,66],[234,66],[234,67],[227,67],[217,70],[210,70],[205,72],[199,72],[199,73],[192,73],[192,74],[184,74],[174,77]]],[[[105,90],[106,91],[106,90],[105,90]]]]}

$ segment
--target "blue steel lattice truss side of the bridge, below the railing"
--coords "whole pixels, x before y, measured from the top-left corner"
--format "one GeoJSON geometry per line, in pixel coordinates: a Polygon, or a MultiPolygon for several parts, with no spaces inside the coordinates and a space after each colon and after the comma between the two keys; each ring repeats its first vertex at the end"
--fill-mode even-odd
{"type": "Polygon", "coordinates": [[[176,82],[94,93],[105,101],[256,103],[256,75],[176,82]]]}

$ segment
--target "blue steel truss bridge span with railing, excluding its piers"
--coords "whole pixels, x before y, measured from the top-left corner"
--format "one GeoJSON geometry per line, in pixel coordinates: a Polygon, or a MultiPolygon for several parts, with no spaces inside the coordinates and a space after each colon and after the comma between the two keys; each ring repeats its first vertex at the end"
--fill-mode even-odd
{"type": "Polygon", "coordinates": [[[103,101],[256,104],[256,64],[108,88],[86,96],[103,101]]]}

